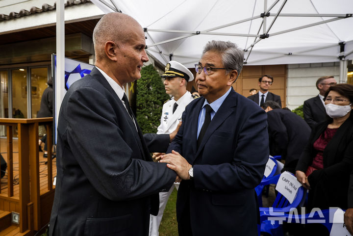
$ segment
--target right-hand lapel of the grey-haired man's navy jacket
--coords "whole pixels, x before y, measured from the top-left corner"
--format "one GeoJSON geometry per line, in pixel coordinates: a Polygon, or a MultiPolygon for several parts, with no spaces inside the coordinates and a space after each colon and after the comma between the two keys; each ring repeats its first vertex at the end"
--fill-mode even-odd
{"type": "Polygon", "coordinates": [[[228,94],[227,98],[225,99],[223,104],[220,106],[220,108],[218,109],[218,111],[214,115],[211,123],[209,124],[207,131],[203,136],[202,142],[200,144],[199,149],[197,150],[195,157],[199,156],[201,150],[203,149],[203,146],[205,145],[207,140],[211,137],[213,132],[216,131],[216,129],[227,119],[227,117],[231,113],[233,113],[234,109],[231,109],[231,108],[236,106],[236,100],[237,100],[236,93],[234,92],[234,90],[232,88],[230,93],[228,94]]]}

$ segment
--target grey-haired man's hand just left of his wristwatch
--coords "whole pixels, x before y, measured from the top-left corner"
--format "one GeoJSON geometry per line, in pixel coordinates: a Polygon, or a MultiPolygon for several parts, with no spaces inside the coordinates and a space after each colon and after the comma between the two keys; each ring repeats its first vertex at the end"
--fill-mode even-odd
{"type": "Polygon", "coordinates": [[[174,170],[181,179],[190,179],[189,169],[191,168],[191,165],[178,152],[173,150],[172,153],[161,156],[159,162],[167,163],[168,168],[174,170]]]}

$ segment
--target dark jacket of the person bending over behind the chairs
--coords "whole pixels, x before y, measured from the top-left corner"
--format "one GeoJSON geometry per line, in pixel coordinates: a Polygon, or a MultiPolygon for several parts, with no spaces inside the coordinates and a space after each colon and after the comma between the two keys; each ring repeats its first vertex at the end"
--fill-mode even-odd
{"type": "Polygon", "coordinates": [[[281,155],[284,168],[295,173],[295,167],[310,136],[311,129],[299,115],[283,109],[267,112],[270,154],[281,155]]]}

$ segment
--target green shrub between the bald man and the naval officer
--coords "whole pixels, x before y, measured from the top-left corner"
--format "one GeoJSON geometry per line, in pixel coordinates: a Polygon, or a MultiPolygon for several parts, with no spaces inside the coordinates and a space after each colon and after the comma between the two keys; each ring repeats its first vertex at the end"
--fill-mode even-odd
{"type": "Polygon", "coordinates": [[[160,124],[162,107],[169,95],[153,65],[141,70],[141,79],[137,80],[136,119],[142,133],[155,133],[160,124]]]}

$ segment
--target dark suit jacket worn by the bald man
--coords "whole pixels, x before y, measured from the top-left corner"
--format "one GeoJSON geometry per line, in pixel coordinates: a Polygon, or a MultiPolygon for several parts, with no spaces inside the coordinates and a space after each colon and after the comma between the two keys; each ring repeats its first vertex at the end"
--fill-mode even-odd
{"type": "Polygon", "coordinates": [[[50,236],[148,235],[157,193],[176,173],[151,161],[137,129],[97,68],[70,86],[58,120],[50,236]]]}

